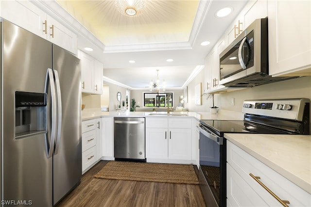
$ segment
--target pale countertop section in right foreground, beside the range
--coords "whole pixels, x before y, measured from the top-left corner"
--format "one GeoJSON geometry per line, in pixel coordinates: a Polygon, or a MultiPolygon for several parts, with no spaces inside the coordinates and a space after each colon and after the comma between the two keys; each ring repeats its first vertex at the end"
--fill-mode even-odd
{"type": "Polygon", "coordinates": [[[311,136],[225,133],[242,150],[311,193],[311,136]]]}

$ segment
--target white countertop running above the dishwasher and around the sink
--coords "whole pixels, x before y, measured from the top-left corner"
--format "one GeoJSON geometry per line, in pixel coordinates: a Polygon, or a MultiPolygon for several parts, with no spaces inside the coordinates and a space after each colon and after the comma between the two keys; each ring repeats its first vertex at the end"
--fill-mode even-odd
{"type": "MultiPolygon", "coordinates": [[[[136,111],[126,111],[126,112],[118,112],[118,111],[101,111],[100,108],[96,109],[85,109],[82,111],[82,121],[86,121],[89,119],[100,118],[104,116],[120,116],[120,117],[163,117],[163,115],[149,115],[150,113],[158,113],[163,114],[166,112],[136,112],[136,111]]],[[[175,112],[173,112],[175,113],[175,112]]],[[[176,113],[184,113],[187,116],[176,116],[176,117],[194,117],[197,120],[205,119],[205,120],[243,120],[243,113],[237,111],[226,111],[219,110],[216,114],[211,114],[210,112],[176,112],[176,113]]]]}

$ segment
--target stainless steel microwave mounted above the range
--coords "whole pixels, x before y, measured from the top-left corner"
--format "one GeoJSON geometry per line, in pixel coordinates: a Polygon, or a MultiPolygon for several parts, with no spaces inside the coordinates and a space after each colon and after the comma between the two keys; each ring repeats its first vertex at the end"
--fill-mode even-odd
{"type": "Polygon", "coordinates": [[[256,19],[220,55],[220,85],[250,87],[270,82],[268,18],[256,19]]]}

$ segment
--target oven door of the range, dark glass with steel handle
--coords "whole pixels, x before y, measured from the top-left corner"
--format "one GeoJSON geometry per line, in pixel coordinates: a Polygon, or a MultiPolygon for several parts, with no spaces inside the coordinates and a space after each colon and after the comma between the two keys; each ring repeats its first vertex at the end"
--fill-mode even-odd
{"type": "Polygon", "coordinates": [[[226,206],[225,139],[199,126],[199,181],[208,207],[226,206]]]}

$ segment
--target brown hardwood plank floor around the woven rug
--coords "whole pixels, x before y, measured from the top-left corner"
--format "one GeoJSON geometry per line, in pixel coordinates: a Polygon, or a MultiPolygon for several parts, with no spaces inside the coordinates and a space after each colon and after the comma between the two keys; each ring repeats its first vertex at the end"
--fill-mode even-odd
{"type": "Polygon", "coordinates": [[[199,185],[94,178],[101,160],[56,207],[206,207],[199,185]]]}

